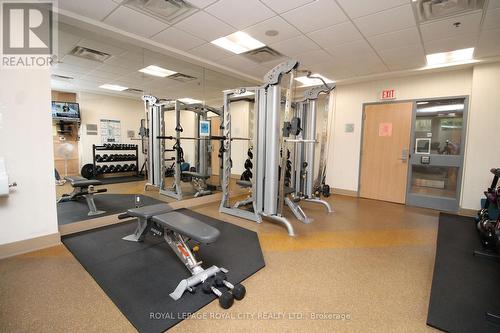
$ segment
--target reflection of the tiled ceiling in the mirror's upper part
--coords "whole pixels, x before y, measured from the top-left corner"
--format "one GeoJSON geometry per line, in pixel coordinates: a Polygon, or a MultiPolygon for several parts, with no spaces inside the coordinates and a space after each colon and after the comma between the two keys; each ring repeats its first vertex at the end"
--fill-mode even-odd
{"type": "Polygon", "coordinates": [[[235,76],[64,23],[58,25],[58,40],[59,62],[52,66],[51,80],[52,89],[55,90],[98,92],[132,98],[139,98],[144,92],[161,98],[190,97],[210,105],[220,105],[222,90],[252,85],[235,76]],[[111,54],[112,57],[98,62],[74,56],[71,51],[77,45],[111,54]],[[138,71],[149,65],[168,68],[196,79],[179,82],[138,71]],[[102,84],[117,84],[139,91],[108,91],[99,88],[102,84]]]}

